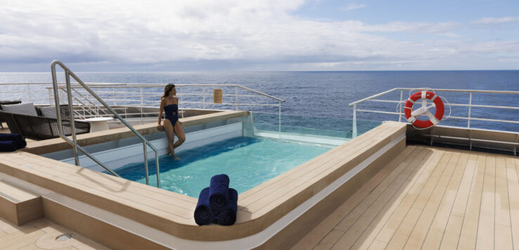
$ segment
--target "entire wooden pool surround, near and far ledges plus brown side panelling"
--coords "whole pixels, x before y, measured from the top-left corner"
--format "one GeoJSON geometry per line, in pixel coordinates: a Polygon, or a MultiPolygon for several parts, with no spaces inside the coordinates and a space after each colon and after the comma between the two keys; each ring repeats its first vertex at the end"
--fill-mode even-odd
{"type": "MultiPolygon", "coordinates": [[[[183,126],[187,127],[245,115],[248,115],[248,112],[224,111],[180,120],[183,126]]],[[[155,123],[135,127],[144,135],[157,131],[155,123]]],[[[387,144],[402,138],[405,132],[404,123],[383,123],[350,142],[244,192],[238,199],[236,224],[229,227],[196,225],[193,219],[197,203],[195,198],[38,156],[51,151],[70,149],[63,139],[32,142],[21,151],[1,153],[0,173],[129,218],[174,237],[200,242],[219,242],[262,232],[387,144]]],[[[79,144],[84,146],[127,137],[132,137],[131,132],[121,128],[79,135],[77,139],[79,144]]],[[[338,192],[323,199],[316,208],[307,211],[305,217],[293,221],[259,247],[269,248],[283,244],[290,246],[297,242],[297,235],[305,235],[312,229],[303,227],[319,223],[316,222],[320,217],[316,209],[331,213],[404,147],[405,137],[370,163],[369,167],[338,188],[338,192]]],[[[45,218],[70,227],[101,244],[113,248],[165,247],[153,240],[135,237],[131,233],[132,229],[121,230],[110,223],[89,218],[81,211],[72,211],[67,206],[59,204],[56,199],[47,199],[45,194],[41,196],[45,218]],[[114,238],[117,238],[117,241],[114,241],[114,238]]]]}

